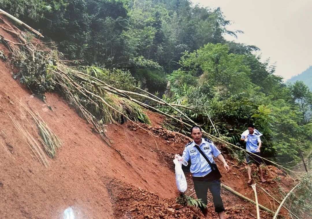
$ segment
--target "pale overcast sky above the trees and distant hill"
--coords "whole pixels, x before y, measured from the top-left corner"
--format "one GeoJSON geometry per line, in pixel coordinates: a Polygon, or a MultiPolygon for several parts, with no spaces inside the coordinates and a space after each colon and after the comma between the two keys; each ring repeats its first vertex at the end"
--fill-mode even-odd
{"type": "Polygon", "coordinates": [[[220,7],[229,30],[242,30],[227,40],[255,45],[262,59],[276,62],[276,75],[289,79],[312,65],[312,0],[191,0],[220,7]]]}

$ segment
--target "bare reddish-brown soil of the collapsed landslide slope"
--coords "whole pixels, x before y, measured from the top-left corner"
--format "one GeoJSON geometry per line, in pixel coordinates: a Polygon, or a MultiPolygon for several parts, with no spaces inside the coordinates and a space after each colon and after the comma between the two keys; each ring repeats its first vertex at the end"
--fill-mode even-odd
{"type": "MultiPolygon", "coordinates": [[[[2,24],[0,22],[0,26],[2,24]]],[[[1,28],[0,34],[17,41],[1,28]]],[[[0,50],[10,55],[2,44],[0,50]]],[[[0,218],[62,218],[68,207],[74,209],[76,218],[202,217],[196,209],[174,206],[177,191],[172,157],[182,153],[187,140],[167,136],[159,125],[161,116],[149,112],[153,125],[142,125],[149,133],[131,122],[108,125],[110,144],[121,151],[123,159],[93,133],[92,126],[60,96],[46,95],[51,111],[13,80],[12,71],[12,66],[0,59],[0,218]],[[29,146],[8,116],[8,112],[12,113],[35,139],[38,138],[31,117],[19,101],[38,112],[63,142],[57,157],[48,158],[48,168],[32,158],[29,146]]],[[[232,170],[223,174],[223,183],[254,199],[252,189],[245,186],[244,167],[231,160],[228,163],[232,170]]],[[[270,168],[266,178],[271,181],[275,174],[287,185],[291,184],[291,179],[281,171],[270,168]]],[[[194,196],[190,174],[186,176],[187,194],[194,196]]],[[[276,193],[275,181],[261,186],[276,193]]],[[[289,188],[285,186],[285,189],[289,188]]],[[[225,189],[222,189],[222,198],[226,218],[255,218],[254,205],[225,189]]],[[[260,190],[258,198],[260,204],[274,210],[271,198],[260,190]]],[[[210,218],[217,218],[212,201],[208,207],[210,218]]],[[[285,210],[282,213],[285,214],[285,210]]],[[[271,215],[261,211],[261,218],[271,218],[271,215]]]]}

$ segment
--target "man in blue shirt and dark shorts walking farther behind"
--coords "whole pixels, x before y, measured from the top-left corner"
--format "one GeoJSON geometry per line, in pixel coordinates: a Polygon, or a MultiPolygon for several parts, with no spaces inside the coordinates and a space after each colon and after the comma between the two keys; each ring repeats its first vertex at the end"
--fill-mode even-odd
{"type": "Polygon", "coordinates": [[[255,156],[255,155],[260,156],[260,148],[261,148],[262,143],[260,140],[259,132],[255,131],[255,126],[253,124],[249,124],[248,125],[248,134],[244,134],[244,133],[241,135],[241,141],[246,142],[246,150],[252,153],[252,154],[247,153],[247,155],[246,155],[246,162],[248,165],[247,185],[251,185],[251,183],[252,183],[251,182],[251,167],[250,167],[251,162],[254,162],[257,165],[257,167],[259,169],[258,171],[260,173],[260,181],[262,183],[265,183],[266,180],[263,178],[263,171],[262,171],[262,167],[261,167],[262,160],[260,157],[255,156]]]}

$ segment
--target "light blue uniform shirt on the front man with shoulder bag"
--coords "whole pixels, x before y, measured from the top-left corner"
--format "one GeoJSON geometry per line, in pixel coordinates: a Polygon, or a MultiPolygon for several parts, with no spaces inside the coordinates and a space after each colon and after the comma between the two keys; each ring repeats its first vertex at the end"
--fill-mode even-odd
{"type": "MultiPolygon", "coordinates": [[[[211,167],[202,154],[199,153],[195,145],[196,144],[194,141],[188,143],[184,148],[182,158],[186,161],[191,160],[192,165],[190,171],[193,176],[206,176],[211,172],[211,167]]],[[[220,150],[215,144],[213,144],[212,140],[210,139],[202,138],[202,143],[199,145],[199,148],[205,153],[209,161],[212,163],[214,163],[213,157],[217,157],[219,154],[221,154],[220,150]]]]}

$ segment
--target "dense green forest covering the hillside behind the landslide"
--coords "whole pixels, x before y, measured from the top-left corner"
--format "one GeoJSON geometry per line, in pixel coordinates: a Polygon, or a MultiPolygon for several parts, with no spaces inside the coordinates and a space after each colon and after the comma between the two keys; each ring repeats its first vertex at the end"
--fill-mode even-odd
{"type": "MultiPolygon", "coordinates": [[[[300,162],[299,148],[306,156],[311,151],[311,91],[300,81],[285,84],[269,60],[254,55],[256,46],[225,40],[237,32],[227,29],[230,21],[220,8],[188,0],[0,0],[0,5],[40,30],[41,40],[53,42],[73,66],[106,68],[116,80],[196,109],[181,111],[212,135],[240,145],[240,133],[254,123],[264,135],[264,156],[287,166],[300,162]]],[[[181,111],[156,107],[181,117],[181,111]]],[[[164,125],[181,128],[176,120],[164,125]]]]}

